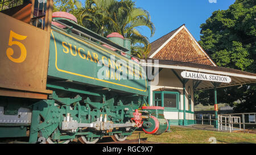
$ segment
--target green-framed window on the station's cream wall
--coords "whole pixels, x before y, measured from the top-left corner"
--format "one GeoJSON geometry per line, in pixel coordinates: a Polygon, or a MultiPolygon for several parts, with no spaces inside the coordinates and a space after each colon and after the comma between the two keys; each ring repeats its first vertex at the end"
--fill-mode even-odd
{"type": "Polygon", "coordinates": [[[179,108],[179,94],[172,91],[154,91],[154,106],[167,107],[172,109],[179,108]]]}

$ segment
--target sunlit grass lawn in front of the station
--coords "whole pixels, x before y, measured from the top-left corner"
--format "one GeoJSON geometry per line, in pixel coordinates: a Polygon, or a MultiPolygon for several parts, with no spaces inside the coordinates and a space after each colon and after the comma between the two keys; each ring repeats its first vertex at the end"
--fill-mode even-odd
{"type": "MultiPolygon", "coordinates": [[[[139,131],[134,132],[128,139],[138,139],[138,133],[139,131]]],[[[147,141],[170,144],[209,144],[212,143],[209,141],[210,137],[215,137],[217,144],[256,144],[255,133],[229,133],[172,126],[171,132],[165,132],[161,135],[149,135],[141,132],[141,138],[144,137],[147,137],[147,141]]]]}

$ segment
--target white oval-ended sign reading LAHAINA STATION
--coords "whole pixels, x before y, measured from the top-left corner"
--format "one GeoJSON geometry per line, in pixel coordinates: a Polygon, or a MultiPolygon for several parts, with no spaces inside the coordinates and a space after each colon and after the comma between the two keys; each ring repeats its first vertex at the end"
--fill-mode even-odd
{"type": "Polygon", "coordinates": [[[197,72],[181,72],[181,76],[183,78],[189,79],[197,79],[197,80],[204,80],[204,81],[213,81],[213,82],[224,82],[230,83],[231,78],[227,76],[219,76],[214,74],[205,74],[205,73],[197,73],[197,72]]]}

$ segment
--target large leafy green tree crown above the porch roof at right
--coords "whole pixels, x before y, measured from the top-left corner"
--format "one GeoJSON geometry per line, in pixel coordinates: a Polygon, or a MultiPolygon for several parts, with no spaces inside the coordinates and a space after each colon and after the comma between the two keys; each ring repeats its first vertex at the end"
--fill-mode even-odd
{"type": "Polygon", "coordinates": [[[218,66],[255,72],[256,2],[237,0],[201,24],[200,45],[218,66]]]}

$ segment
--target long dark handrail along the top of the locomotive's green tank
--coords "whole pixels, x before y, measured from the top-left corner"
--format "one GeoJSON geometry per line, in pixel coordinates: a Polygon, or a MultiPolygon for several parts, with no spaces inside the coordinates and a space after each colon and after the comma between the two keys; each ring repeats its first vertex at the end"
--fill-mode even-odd
{"type": "MultiPolygon", "coordinates": [[[[97,33],[93,32],[93,31],[90,31],[90,30],[80,26],[79,24],[69,22],[68,20],[65,20],[65,19],[59,19],[59,20],[53,19],[52,21],[56,22],[56,23],[59,23],[59,24],[62,24],[65,27],[72,28],[72,30],[74,30],[76,32],[79,32],[79,33],[81,33],[82,35],[84,35],[86,37],[90,37],[93,40],[99,41],[100,43],[109,45],[110,47],[112,47],[114,49],[117,49],[117,51],[120,51],[120,52],[123,52],[123,53],[129,51],[129,49],[126,49],[126,48],[124,48],[124,47],[122,47],[118,44],[115,44],[112,41],[110,41],[109,39],[107,39],[103,36],[100,36],[97,33]]],[[[133,55],[129,55],[128,53],[126,53],[126,55],[131,56],[131,57],[135,57],[133,55]]],[[[138,57],[135,57],[135,58],[138,58],[138,57]]],[[[142,60],[141,58],[138,58],[138,59],[142,60]]]]}

